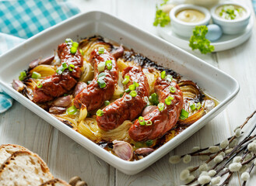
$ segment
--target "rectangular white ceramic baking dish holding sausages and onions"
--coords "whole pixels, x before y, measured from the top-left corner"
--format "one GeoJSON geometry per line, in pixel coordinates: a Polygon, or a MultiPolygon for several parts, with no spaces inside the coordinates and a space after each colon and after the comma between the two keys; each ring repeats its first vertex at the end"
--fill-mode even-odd
{"type": "Polygon", "coordinates": [[[2,55],[0,57],[0,67],[0,84],[4,91],[26,106],[26,108],[29,108],[32,112],[35,112],[41,118],[51,123],[52,126],[59,129],[62,133],[65,133],[87,150],[125,174],[136,174],[149,167],[156,160],[159,160],[170,152],[170,150],[173,150],[184,140],[188,139],[189,136],[198,131],[198,129],[201,129],[202,126],[219,114],[219,112],[223,111],[239,91],[237,81],[222,71],[219,71],[216,67],[212,67],[203,60],[167,43],[157,36],[146,33],[135,26],[103,12],[88,12],[76,15],[65,22],[61,22],[57,26],[53,26],[31,37],[18,47],[2,55]],[[93,36],[95,34],[114,40],[117,43],[122,43],[125,47],[132,48],[136,52],[149,57],[149,59],[155,60],[157,64],[169,67],[185,78],[197,82],[205,92],[217,98],[220,104],[207,115],[203,116],[202,119],[199,119],[198,122],[185,129],[181,134],[161,146],[148,157],[142,160],[128,162],[108,153],[107,150],[103,150],[96,143],[70,129],[58,121],[58,119],[55,119],[54,116],[44,111],[44,109],[30,102],[29,99],[12,89],[12,79],[17,79],[19,72],[26,69],[30,61],[38,57],[51,55],[57,49],[58,44],[62,43],[65,38],[77,40],[80,37],[93,36]]]}

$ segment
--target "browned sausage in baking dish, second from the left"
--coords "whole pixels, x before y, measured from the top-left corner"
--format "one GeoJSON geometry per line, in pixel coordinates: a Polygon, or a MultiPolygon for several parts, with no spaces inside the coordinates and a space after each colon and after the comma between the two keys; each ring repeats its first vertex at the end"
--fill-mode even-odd
{"type": "Polygon", "coordinates": [[[75,96],[74,100],[76,108],[86,106],[88,111],[100,108],[104,101],[109,100],[112,97],[118,77],[116,60],[107,52],[107,50],[105,50],[103,54],[100,54],[97,49],[93,50],[90,61],[94,65],[94,79],[86,88],[75,96]],[[100,88],[97,83],[99,75],[98,64],[107,60],[112,60],[112,69],[107,70],[107,67],[105,67],[103,73],[106,74],[106,77],[104,78],[106,87],[100,88]]]}

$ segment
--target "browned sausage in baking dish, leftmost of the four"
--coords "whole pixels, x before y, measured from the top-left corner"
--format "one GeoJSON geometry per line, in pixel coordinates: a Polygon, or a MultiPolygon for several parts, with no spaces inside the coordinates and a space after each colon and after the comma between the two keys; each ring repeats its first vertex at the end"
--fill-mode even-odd
{"type": "Polygon", "coordinates": [[[54,98],[58,98],[70,91],[77,80],[82,74],[83,60],[82,55],[77,50],[74,54],[70,53],[72,46],[67,43],[62,43],[58,46],[58,57],[61,60],[61,65],[66,63],[67,66],[70,64],[74,65],[73,71],[65,69],[61,74],[55,73],[54,75],[45,77],[41,82],[41,88],[35,88],[33,90],[33,102],[47,102],[54,98]]]}

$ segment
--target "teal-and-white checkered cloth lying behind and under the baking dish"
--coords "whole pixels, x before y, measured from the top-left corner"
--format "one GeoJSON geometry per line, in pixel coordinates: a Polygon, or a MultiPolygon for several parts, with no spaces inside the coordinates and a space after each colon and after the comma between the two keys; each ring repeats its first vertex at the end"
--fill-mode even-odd
{"type": "MultiPolygon", "coordinates": [[[[68,0],[0,0],[0,55],[78,13],[68,0]]],[[[0,113],[11,106],[12,98],[0,87],[0,113]]]]}

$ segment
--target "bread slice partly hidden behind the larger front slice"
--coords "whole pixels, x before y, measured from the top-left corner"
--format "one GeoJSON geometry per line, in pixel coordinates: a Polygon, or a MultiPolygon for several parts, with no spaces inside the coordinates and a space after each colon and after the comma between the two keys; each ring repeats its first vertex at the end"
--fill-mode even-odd
{"type": "MultiPolygon", "coordinates": [[[[16,151],[27,150],[23,146],[6,144],[0,146],[0,166],[16,151]]],[[[29,150],[27,150],[29,151],[29,150]]]]}

